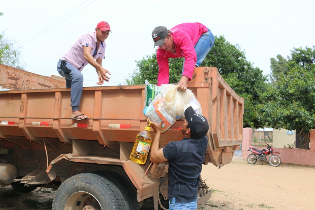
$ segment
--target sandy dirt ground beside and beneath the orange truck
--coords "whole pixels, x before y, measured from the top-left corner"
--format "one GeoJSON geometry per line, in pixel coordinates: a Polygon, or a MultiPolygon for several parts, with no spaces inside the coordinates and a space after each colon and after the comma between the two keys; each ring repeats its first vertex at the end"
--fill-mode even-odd
{"type": "MultiPolygon", "coordinates": [[[[315,209],[315,167],[249,165],[246,160],[233,159],[220,169],[203,166],[201,175],[213,193],[199,210],[315,209]]],[[[10,186],[0,188],[0,210],[51,209],[55,193],[48,188],[30,193],[16,192],[10,186]]]]}

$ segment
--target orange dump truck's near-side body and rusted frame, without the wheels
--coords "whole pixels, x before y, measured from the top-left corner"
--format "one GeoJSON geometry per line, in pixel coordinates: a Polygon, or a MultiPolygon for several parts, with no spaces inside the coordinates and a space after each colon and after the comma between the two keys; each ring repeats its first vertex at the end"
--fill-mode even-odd
{"type": "MultiPolygon", "coordinates": [[[[221,167],[242,144],[244,100],[215,67],[196,68],[187,86],[210,124],[204,164],[221,167]]],[[[144,87],[83,88],[80,110],[90,116],[84,121],[69,119],[69,88],[0,91],[0,167],[14,165],[16,175],[6,176],[25,187],[51,188],[75,174],[110,171],[130,183],[139,207],[151,199],[157,210],[159,194],[167,199],[168,163],[129,161],[135,136],[146,126],[144,87]]],[[[182,124],[177,121],[161,135],[160,147],[182,139],[182,124]]],[[[210,196],[207,190],[198,207],[210,196]]]]}

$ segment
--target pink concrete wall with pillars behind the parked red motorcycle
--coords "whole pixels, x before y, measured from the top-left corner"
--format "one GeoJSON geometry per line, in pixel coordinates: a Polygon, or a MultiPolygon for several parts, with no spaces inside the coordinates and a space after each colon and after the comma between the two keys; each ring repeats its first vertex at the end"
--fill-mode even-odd
{"type": "MultiPolygon", "coordinates": [[[[252,145],[252,136],[251,133],[250,138],[250,129],[251,128],[243,128],[243,143],[242,143],[242,157],[247,158],[250,154],[248,150],[248,146],[252,145]],[[246,135],[245,135],[246,134],[246,135]]],[[[253,130],[251,129],[251,132],[253,130]]],[[[259,149],[262,149],[261,147],[259,149]]],[[[301,165],[310,165],[315,166],[315,129],[311,130],[311,148],[310,150],[305,149],[288,149],[288,148],[273,148],[274,151],[280,152],[281,154],[276,154],[281,158],[281,161],[284,163],[294,163],[301,165]]]]}

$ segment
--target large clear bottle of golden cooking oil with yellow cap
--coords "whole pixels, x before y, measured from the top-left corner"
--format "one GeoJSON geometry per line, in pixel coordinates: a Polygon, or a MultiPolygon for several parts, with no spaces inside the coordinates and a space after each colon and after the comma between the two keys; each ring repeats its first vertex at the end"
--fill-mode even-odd
{"type": "Polygon", "coordinates": [[[144,131],[137,134],[129,160],[139,164],[146,163],[146,158],[148,157],[148,153],[152,144],[152,138],[150,135],[150,124],[151,122],[149,123],[149,126],[146,126],[144,131]]]}

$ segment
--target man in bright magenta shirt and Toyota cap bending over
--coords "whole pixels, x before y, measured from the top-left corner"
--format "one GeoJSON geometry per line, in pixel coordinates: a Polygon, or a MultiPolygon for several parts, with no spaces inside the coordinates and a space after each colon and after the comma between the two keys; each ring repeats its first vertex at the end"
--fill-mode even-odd
{"type": "Polygon", "coordinates": [[[191,80],[195,67],[201,65],[215,42],[210,29],[201,23],[182,23],[170,30],[158,26],[152,31],[152,38],[154,47],[159,46],[157,84],[169,83],[169,58],[184,57],[182,76],[178,82],[178,88],[182,90],[187,89],[187,81],[191,80]]]}

